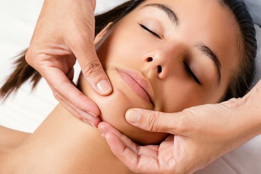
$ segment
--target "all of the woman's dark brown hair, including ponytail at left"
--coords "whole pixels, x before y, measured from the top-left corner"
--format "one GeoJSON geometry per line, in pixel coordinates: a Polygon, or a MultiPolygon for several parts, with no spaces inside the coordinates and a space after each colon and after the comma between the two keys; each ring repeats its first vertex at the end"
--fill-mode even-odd
{"type": "MultiPolygon", "coordinates": [[[[109,23],[115,24],[122,17],[136,8],[144,0],[129,0],[108,12],[95,16],[95,36],[109,23]]],[[[242,97],[249,90],[249,86],[255,75],[255,58],[257,54],[256,30],[252,17],[247,11],[243,2],[238,0],[219,0],[222,5],[227,7],[235,16],[239,25],[242,38],[242,51],[239,67],[232,73],[227,91],[222,100],[233,97],[242,97]]],[[[112,24],[112,25],[113,25],[112,24]]],[[[111,25],[111,26],[112,26],[111,25]]],[[[110,27],[111,27],[110,26],[110,27]]],[[[11,92],[16,91],[21,85],[31,78],[32,88],[36,87],[41,75],[29,66],[25,61],[25,53],[18,55],[15,61],[15,70],[7,78],[7,81],[0,88],[0,97],[6,98],[11,92]]]]}

